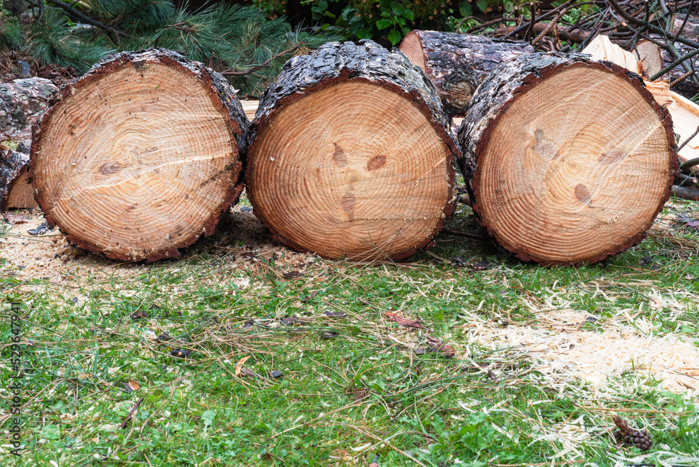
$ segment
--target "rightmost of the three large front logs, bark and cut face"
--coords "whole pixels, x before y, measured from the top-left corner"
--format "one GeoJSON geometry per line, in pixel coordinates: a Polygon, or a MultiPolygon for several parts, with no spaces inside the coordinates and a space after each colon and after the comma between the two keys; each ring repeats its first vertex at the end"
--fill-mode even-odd
{"type": "Polygon", "coordinates": [[[479,222],[542,264],[599,261],[640,243],[677,171],[672,121],[640,76],[588,55],[503,64],[458,139],[479,222]]]}

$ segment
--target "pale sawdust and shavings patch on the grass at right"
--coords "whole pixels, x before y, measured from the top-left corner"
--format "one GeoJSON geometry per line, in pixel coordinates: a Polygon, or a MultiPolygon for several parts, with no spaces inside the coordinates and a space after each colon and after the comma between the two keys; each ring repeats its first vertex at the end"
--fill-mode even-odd
{"type": "Polygon", "coordinates": [[[614,384],[614,377],[634,373],[650,375],[660,387],[674,392],[699,389],[695,343],[672,335],[653,336],[652,324],[642,317],[635,319],[635,326],[622,319],[603,319],[598,329],[583,329],[596,319],[567,309],[537,315],[535,323],[504,327],[473,317],[466,327],[471,343],[514,347],[510,354],[531,359],[551,387],[582,380],[597,392],[614,384]]]}

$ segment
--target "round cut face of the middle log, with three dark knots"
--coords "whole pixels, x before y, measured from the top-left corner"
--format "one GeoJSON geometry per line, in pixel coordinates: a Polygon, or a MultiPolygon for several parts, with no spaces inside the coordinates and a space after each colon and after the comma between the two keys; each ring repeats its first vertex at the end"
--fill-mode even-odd
{"type": "Polygon", "coordinates": [[[415,250],[444,218],[447,147],[404,96],[342,82],[285,106],[248,161],[271,230],[323,257],[415,250]]]}

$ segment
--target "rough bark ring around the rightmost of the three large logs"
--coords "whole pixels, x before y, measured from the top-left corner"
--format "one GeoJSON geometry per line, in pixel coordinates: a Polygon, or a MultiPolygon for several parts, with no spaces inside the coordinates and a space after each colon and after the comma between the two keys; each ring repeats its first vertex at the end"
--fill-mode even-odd
{"type": "Polygon", "coordinates": [[[666,110],[660,104],[658,104],[651,92],[649,92],[649,90],[646,89],[643,83],[643,79],[640,75],[638,75],[637,73],[633,73],[632,71],[628,71],[627,69],[624,69],[623,67],[617,64],[607,61],[595,61],[590,59],[589,55],[563,55],[560,53],[548,52],[522,56],[521,58],[512,60],[509,66],[516,66],[516,64],[518,64],[519,61],[521,61],[522,59],[526,59],[527,57],[531,57],[532,55],[538,55],[539,58],[545,62],[544,66],[541,66],[540,68],[531,67],[528,70],[526,68],[523,69],[523,71],[528,71],[528,76],[526,77],[526,79],[521,82],[521,85],[517,86],[515,89],[512,90],[512,96],[510,97],[510,99],[507,99],[502,104],[499,104],[500,106],[496,107],[493,113],[487,113],[487,107],[489,106],[490,101],[489,97],[491,97],[494,94],[498,94],[498,92],[500,92],[500,88],[491,89],[491,87],[493,87],[491,85],[492,79],[497,75],[497,73],[503,71],[508,65],[505,64],[503,66],[498,67],[498,69],[496,69],[496,71],[494,71],[491,74],[491,76],[489,76],[487,80],[482,82],[478,89],[476,89],[476,93],[474,94],[474,99],[472,100],[472,105],[468,111],[468,115],[466,119],[463,120],[461,127],[459,127],[457,141],[459,141],[459,143],[462,145],[462,152],[461,157],[457,159],[457,164],[459,164],[459,169],[463,174],[463,178],[466,180],[466,187],[469,191],[469,197],[475,218],[477,222],[483,227],[483,229],[487,231],[487,235],[491,238],[491,241],[496,246],[504,248],[505,250],[507,250],[507,252],[510,252],[510,254],[514,254],[515,257],[521,259],[522,261],[537,262],[542,266],[582,266],[584,264],[596,263],[598,261],[602,261],[603,259],[612,257],[615,254],[624,252],[628,250],[630,247],[633,247],[641,243],[643,239],[646,238],[647,231],[652,226],[655,218],[658,216],[658,214],[663,209],[663,206],[665,206],[665,203],[670,198],[672,182],[675,178],[675,173],[677,173],[677,171],[679,170],[677,162],[677,145],[675,143],[675,133],[672,130],[672,117],[670,117],[670,113],[668,113],[668,110],[666,110]],[[607,73],[613,73],[614,75],[617,75],[621,78],[626,78],[628,82],[630,82],[630,84],[634,87],[634,89],[636,89],[639,92],[639,94],[650,104],[651,108],[653,108],[656,111],[658,117],[660,117],[663,121],[665,135],[668,138],[668,148],[670,148],[671,173],[669,174],[668,181],[665,185],[665,195],[661,198],[661,201],[658,203],[658,207],[656,208],[651,220],[642,227],[638,234],[630,237],[628,240],[626,240],[626,242],[619,245],[619,247],[614,248],[613,250],[610,250],[608,252],[604,252],[596,256],[590,257],[588,259],[582,259],[580,261],[538,260],[533,257],[529,257],[528,255],[522,252],[515,252],[513,250],[510,250],[510,248],[507,247],[504,243],[500,243],[500,238],[498,238],[496,233],[482,221],[482,213],[480,210],[480,206],[478,205],[477,200],[475,199],[475,192],[478,188],[477,175],[479,175],[477,161],[481,153],[487,147],[489,135],[493,128],[496,127],[496,124],[500,120],[500,117],[502,117],[503,113],[507,111],[507,108],[509,108],[514,101],[519,99],[519,96],[523,95],[533,86],[537,85],[538,82],[541,82],[542,80],[545,80],[546,78],[549,78],[550,76],[559,73],[559,71],[563,71],[564,68],[580,66],[589,66],[595,69],[599,69],[601,71],[605,71],[607,73]],[[480,115],[483,115],[483,117],[474,121],[468,120],[469,115],[479,115],[479,113],[480,115]]]}

